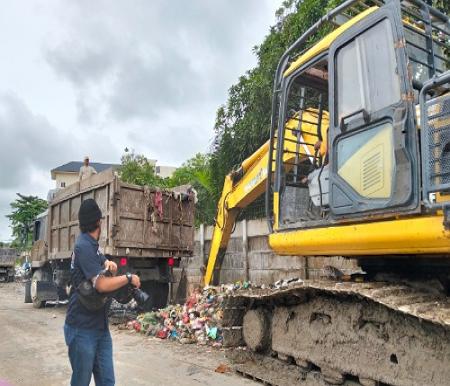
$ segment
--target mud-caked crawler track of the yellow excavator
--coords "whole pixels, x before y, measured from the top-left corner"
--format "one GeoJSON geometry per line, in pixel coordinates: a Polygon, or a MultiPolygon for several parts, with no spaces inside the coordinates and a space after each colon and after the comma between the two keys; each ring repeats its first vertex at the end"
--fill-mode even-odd
{"type": "Polygon", "coordinates": [[[438,282],[239,291],[223,326],[224,345],[240,347],[235,370],[264,384],[450,384],[450,298],[438,282]]]}

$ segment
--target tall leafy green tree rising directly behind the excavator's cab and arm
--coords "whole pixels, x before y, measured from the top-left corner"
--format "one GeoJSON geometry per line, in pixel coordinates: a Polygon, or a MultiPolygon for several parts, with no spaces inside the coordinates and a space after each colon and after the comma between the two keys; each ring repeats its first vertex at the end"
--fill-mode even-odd
{"type": "Polygon", "coordinates": [[[254,47],[257,66],[229,89],[217,110],[211,168],[216,198],[225,175],[269,138],[272,87],[286,49],[339,0],[286,0],[276,11],[277,24],[254,47]]]}

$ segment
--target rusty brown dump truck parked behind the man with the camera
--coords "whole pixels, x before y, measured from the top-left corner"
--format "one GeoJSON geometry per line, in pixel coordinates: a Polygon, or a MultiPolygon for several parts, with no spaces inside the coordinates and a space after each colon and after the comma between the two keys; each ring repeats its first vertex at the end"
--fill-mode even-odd
{"type": "MultiPolygon", "coordinates": [[[[118,273],[139,275],[150,294],[148,308],[166,305],[172,267],[190,256],[194,245],[194,197],[188,190],[160,190],[122,182],[112,169],[59,191],[38,216],[31,251],[32,277],[27,283],[37,308],[64,300],[70,291],[70,263],[80,233],[78,211],[93,198],[102,211],[101,252],[117,263],[118,273]]],[[[126,303],[128,297],[121,297],[126,303]]]]}

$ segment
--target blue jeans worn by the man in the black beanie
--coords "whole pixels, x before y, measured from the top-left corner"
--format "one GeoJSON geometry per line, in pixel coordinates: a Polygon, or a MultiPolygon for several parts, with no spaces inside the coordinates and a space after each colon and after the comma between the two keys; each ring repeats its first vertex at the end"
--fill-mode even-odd
{"type": "Polygon", "coordinates": [[[113,386],[114,367],[109,330],[86,330],[64,325],[64,337],[72,366],[71,386],[113,386]]]}

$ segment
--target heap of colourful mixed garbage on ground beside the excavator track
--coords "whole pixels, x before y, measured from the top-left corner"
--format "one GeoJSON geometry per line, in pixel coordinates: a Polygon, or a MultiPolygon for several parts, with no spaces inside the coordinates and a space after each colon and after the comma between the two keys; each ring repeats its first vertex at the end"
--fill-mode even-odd
{"type": "Polygon", "coordinates": [[[197,343],[221,347],[224,297],[233,291],[249,287],[250,283],[239,282],[196,289],[184,305],[169,305],[158,311],[141,314],[128,322],[127,328],[147,336],[175,340],[182,344],[197,343]]]}

